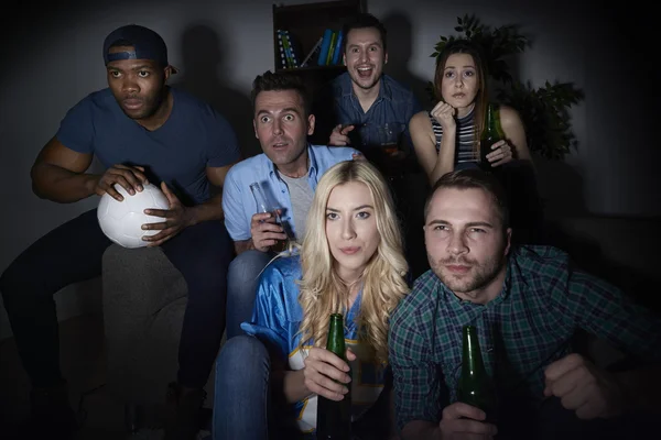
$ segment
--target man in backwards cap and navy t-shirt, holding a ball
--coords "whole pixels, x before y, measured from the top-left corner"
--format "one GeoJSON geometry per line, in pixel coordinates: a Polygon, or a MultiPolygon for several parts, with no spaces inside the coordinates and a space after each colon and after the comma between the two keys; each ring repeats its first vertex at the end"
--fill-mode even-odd
{"type": "MultiPolygon", "coordinates": [[[[230,166],[240,158],[235,132],[207,103],[171,89],[176,69],[155,32],[122,26],[104,43],[108,88],[74,106],[39,154],[31,172],[34,193],[59,204],[90,196],[161,187],[167,210],[151,210],[163,221],[143,229],[143,240],[161,246],[184,276],[188,301],[180,342],[176,417],[166,439],[193,439],[212,365],[225,330],[226,275],[231,242],[223,223],[220,196],[230,166]],[[107,168],[86,173],[93,157],[107,168]]],[[[101,274],[111,241],[96,209],[62,224],[25,250],[0,278],[0,290],[23,365],[32,382],[30,424],[48,437],[75,431],[66,382],[59,371],[53,295],[69,284],[101,274]]],[[[41,437],[44,438],[44,437],[41,437]]]]}

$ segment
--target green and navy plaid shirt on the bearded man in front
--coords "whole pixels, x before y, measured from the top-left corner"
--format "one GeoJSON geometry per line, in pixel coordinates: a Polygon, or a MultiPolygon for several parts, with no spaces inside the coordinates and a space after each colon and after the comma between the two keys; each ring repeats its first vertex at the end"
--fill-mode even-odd
{"type": "Polygon", "coordinates": [[[543,398],[544,369],[572,352],[583,329],[622,352],[660,360],[661,319],[616,287],[572,268],[554,248],[510,254],[501,293],[489,304],[457,298],[436,275],[420,276],[390,326],[400,429],[413,420],[438,422],[456,400],[462,327],[477,327],[487,373],[498,398],[533,410],[543,398]]]}

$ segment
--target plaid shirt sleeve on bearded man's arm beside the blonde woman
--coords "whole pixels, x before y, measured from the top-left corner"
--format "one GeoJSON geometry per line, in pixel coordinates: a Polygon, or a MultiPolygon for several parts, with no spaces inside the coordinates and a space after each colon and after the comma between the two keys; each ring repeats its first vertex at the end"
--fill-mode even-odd
{"type": "Polygon", "coordinates": [[[441,377],[432,359],[432,341],[424,329],[434,328],[423,322],[421,307],[429,302],[416,300],[415,293],[405,298],[392,316],[389,359],[393,374],[397,424],[403,429],[413,420],[438,421],[441,414],[441,377]]]}

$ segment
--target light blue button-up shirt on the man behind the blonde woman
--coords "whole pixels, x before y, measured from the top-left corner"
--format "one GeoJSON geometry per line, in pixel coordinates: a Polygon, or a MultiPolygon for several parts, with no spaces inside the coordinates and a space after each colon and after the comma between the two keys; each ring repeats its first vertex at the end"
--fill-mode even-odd
{"type": "MultiPolygon", "coordinates": [[[[307,155],[310,167],[307,182],[313,191],[322,175],[333,165],[351,161],[357,150],[344,146],[308,145],[307,155]]],[[[250,184],[259,182],[264,189],[267,201],[271,208],[282,210],[281,220],[296,237],[294,212],[289,189],[280,178],[275,165],[266,154],[258,154],[234,165],[227,173],[223,185],[223,210],[225,211],[225,227],[234,241],[250,239],[250,221],[258,212],[257,202],[250,191],[250,184]]]]}

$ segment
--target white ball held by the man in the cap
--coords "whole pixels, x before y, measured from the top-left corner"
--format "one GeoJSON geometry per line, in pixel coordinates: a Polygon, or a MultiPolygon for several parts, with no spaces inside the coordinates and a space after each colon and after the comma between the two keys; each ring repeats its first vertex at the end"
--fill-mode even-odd
{"type": "Polygon", "coordinates": [[[101,231],[115,243],[123,248],[143,248],[149,244],[142,240],[143,235],[155,235],[159,230],[143,230],[144,223],[161,223],[165,221],[162,217],[148,216],[145,209],[170,209],[167,197],[161,189],[153,185],[143,185],[142,191],[136,191],[133,196],[127,193],[121,185],[115,185],[115,189],[123,196],[118,201],[110,195],[101,196],[97,209],[97,217],[101,231]]]}

